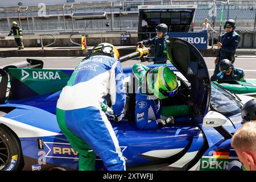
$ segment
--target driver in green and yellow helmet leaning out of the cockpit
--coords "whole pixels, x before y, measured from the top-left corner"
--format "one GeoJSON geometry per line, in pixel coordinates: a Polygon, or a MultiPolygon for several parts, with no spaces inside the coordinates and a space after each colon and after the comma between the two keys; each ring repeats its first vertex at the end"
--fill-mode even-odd
{"type": "Polygon", "coordinates": [[[139,80],[135,104],[135,121],[139,130],[173,126],[174,114],[188,115],[187,105],[160,107],[160,100],[177,94],[177,77],[170,68],[162,66],[150,69],[142,64],[134,64],[133,73],[139,80]]]}

